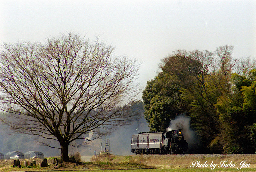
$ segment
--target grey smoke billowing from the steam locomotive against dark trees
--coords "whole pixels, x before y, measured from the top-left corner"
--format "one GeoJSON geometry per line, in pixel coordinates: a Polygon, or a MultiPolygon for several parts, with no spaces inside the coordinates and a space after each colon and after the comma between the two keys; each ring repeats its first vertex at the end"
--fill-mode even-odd
{"type": "Polygon", "coordinates": [[[182,114],[176,116],[175,119],[171,120],[169,127],[166,129],[170,130],[179,130],[184,135],[184,139],[187,141],[189,147],[194,146],[195,144],[195,132],[190,128],[190,117],[182,114]]]}

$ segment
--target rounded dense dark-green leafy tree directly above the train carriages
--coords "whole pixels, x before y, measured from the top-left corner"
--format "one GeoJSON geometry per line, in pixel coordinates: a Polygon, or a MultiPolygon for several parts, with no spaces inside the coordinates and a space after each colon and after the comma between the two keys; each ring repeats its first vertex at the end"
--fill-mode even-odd
{"type": "Polygon", "coordinates": [[[168,72],[160,72],[147,82],[142,99],[145,104],[145,119],[151,131],[166,130],[170,120],[184,112],[180,88],[180,83],[168,72]]]}

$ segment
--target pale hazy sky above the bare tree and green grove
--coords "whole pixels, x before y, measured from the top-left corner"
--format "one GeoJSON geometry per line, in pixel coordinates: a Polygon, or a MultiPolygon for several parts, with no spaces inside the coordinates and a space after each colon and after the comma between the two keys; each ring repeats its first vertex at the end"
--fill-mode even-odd
{"type": "Polygon", "coordinates": [[[66,31],[101,35],[116,54],[141,60],[144,88],[177,49],[233,45],[234,58],[256,57],[256,1],[0,0],[0,43],[43,42],[66,31]]]}

